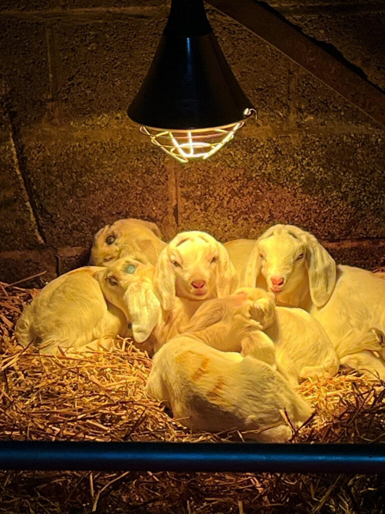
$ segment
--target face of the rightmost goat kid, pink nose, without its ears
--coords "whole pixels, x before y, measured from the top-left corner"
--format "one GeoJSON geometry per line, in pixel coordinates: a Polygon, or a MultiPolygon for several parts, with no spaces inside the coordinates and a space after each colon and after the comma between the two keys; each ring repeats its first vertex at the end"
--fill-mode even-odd
{"type": "Polygon", "coordinates": [[[306,243],[290,233],[272,234],[258,242],[261,273],[269,291],[294,291],[306,269],[306,243]]]}

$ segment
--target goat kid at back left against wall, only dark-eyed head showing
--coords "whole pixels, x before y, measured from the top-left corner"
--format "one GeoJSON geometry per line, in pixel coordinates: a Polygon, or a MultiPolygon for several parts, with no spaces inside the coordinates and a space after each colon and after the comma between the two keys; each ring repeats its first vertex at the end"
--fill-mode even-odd
{"type": "Polygon", "coordinates": [[[93,237],[90,264],[109,266],[119,258],[135,255],[155,265],[166,243],[155,223],[143,219],[118,219],[93,237]]]}

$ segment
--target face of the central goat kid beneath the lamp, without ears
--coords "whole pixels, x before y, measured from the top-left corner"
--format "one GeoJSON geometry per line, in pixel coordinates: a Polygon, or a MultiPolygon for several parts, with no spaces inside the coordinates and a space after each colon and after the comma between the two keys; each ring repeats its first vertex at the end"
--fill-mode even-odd
{"type": "Polygon", "coordinates": [[[175,272],[175,292],[180,298],[206,300],[216,296],[219,255],[204,240],[184,240],[169,251],[175,272]]]}

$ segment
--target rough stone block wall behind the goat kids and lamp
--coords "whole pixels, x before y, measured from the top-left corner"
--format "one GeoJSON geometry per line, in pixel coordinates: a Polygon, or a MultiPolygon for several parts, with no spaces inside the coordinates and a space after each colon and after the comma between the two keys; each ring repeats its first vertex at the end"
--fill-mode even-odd
{"type": "MultiPolygon", "coordinates": [[[[383,20],[378,2],[355,2],[358,13],[342,0],[270,3],[384,87],[384,52],[371,52],[383,34],[371,22],[383,20]],[[355,24],[367,23],[358,44],[355,24]]],[[[93,233],[121,217],[158,223],[166,240],[189,229],[255,238],[292,223],[339,262],[385,265],[384,128],[258,36],[207,12],[259,119],[208,161],[179,164],[126,115],[165,25],[165,0],[2,3],[0,281],[43,270],[50,279],[85,264],[93,233]]]]}

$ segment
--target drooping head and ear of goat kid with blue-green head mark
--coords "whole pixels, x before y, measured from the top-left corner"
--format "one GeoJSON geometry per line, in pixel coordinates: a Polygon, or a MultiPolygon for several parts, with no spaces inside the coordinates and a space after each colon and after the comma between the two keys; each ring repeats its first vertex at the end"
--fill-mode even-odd
{"type": "Polygon", "coordinates": [[[152,287],[153,270],[151,264],[123,257],[94,275],[105,299],[120,308],[131,323],[138,343],[150,336],[161,314],[160,302],[152,287]]]}

